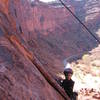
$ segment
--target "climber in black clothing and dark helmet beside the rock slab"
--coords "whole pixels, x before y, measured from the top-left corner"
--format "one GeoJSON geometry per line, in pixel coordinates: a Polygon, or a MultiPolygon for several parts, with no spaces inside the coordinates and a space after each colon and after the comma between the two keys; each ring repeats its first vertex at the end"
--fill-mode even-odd
{"type": "Polygon", "coordinates": [[[76,100],[78,94],[73,92],[74,81],[71,79],[73,75],[73,70],[71,68],[64,69],[65,79],[61,81],[61,86],[64,88],[67,95],[70,97],[71,100],[76,100]]]}

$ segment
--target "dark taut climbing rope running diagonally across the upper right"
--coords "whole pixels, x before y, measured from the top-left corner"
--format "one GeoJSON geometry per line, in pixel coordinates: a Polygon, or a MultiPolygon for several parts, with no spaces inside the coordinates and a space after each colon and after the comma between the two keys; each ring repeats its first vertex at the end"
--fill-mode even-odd
{"type": "Polygon", "coordinates": [[[61,4],[72,14],[72,16],[74,16],[79,23],[90,33],[90,35],[92,35],[92,37],[98,42],[100,43],[100,40],[87,28],[87,26],[65,5],[65,3],[62,0],[59,0],[61,2],[61,4]]]}

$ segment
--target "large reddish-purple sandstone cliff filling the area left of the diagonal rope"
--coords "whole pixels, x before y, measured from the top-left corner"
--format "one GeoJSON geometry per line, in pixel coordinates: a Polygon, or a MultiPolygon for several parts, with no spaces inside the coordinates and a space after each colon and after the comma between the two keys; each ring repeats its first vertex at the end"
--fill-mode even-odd
{"type": "Polygon", "coordinates": [[[55,79],[66,57],[96,46],[64,7],[0,0],[0,100],[63,100],[30,58],[55,79]]]}

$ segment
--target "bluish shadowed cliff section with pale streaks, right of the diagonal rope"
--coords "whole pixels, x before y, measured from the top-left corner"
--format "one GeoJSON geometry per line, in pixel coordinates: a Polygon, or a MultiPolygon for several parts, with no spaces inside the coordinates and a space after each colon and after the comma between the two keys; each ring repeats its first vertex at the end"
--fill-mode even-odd
{"type": "MultiPolygon", "coordinates": [[[[66,0],[65,0],[66,1],[66,0]]],[[[94,33],[100,36],[100,2],[99,0],[70,0],[66,3],[75,8],[74,14],[94,33]]]]}

